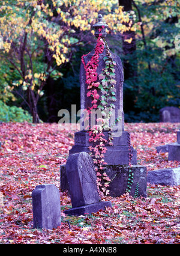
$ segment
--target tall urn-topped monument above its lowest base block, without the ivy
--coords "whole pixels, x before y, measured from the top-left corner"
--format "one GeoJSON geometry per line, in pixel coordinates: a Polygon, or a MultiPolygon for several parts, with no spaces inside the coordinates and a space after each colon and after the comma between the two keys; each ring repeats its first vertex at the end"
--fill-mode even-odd
{"type": "MultiPolygon", "coordinates": [[[[107,24],[103,22],[101,14],[98,15],[98,22],[95,23],[94,28],[96,30],[95,36],[98,37],[101,30],[101,37],[106,37],[106,28],[107,24]]],[[[105,67],[104,56],[106,56],[106,45],[104,46],[103,53],[99,56],[97,73],[100,75],[101,71],[105,67]]],[[[86,56],[84,56],[85,64],[91,60],[92,55],[94,55],[94,49],[86,56]]],[[[109,145],[108,142],[105,145],[107,148],[106,153],[104,154],[104,161],[109,165],[128,165],[130,162],[130,153],[131,153],[131,164],[136,165],[137,163],[137,153],[136,150],[130,145],[130,133],[124,131],[124,112],[123,112],[123,81],[124,81],[124,73],[122,68],[122,62],[119,56],[112,53],[113,60],[116,62],[115,75],[116,75],[116,101],[113,102],[115,105],[115,118],[118,117],[118,113],[121,113],[121,121],[116,126],[117,131],[115,131],[116,135],[113,138],[113,145],[109,145]],[[119,112],[118,112],[119,111],[119,112]]],[[[97,80],[100,82],[100,79],[97,80]]],[[[88,88],[86,84],[86,71],[83,63],[80,65],[80,107],[81,109],[91,108],[92,103],[91,99],[87,97],[88,88]]],[[[97,93],[101,96],[100,89],[97,88],[97,93]]],[[[89,121],[90,122],[90,121],[89,121]]],[[[108,141],[109,133],[108,131],[104,131],[104,138],[108,141]]],[[[70,150],[70,154],[74,154],[77,152],[85,151],[89,152],[89,146],[92,146],[92,142],[89,142],[89,134],[86,130],[81,130],[80,132],[76,132],[74,134],[74,146],[70,150]]]]}

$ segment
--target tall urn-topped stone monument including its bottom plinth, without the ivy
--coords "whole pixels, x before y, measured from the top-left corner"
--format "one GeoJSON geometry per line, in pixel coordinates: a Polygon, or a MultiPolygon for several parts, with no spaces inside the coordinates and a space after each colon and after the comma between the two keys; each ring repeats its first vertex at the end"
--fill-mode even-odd
{"type": "MultiPolygon", "coordinates": [[[[98,38],[101,32],[101,38],[106,37],[106,23],[103,22],[101,14],[98,15],[98,22],[94,25],[95,36],[98,38]]],[[[100,75],[105,67],[104,57],[107,56],[107,45],[105,44],[104,50],[99,55],[99,62],[97,67],[97,74],[100,75]]],[[[88,55],[83,56],[85,65],[91,60],[95,53],[95,47],[92,52],[88,55]]],[[[123,112],[123,81],[124,73],[122,62],[119,56],[110,52],[113,61],[116,63],[114,66],[115,74],[115,97],[116,101],[113,102],[115,105],[115,117],[113,120],[121,115],[121,121],[118,122],[116,130],[113,133],[113,145],[109,145],[109,142],[105,144],[107,148],[106,153],[104,153],[104,162],[107,165],[104,168],[107,175],[110,178],[109,187],[110,196],[119,197],[125,192],[130,192],[131,195],[136,195],[136,197],[143,196],[146,197],[146,167],[137,165],[137,152],[131,146],[130,133],[124,130],[124,112],[123,112]]],[[[101,80],[97,80],[100,82],[101,80]]],[[[87,97],[88,85],[86,84],[86,70],[83,63],[80,66],[80,104],[81,109],[91,108],[92,102],[89,97],[87,97]]],[[[101,96],[100,88],[97,88],[97,93],[101,96]]],[[[82,125],[82,127],[85,127],[82,125]]],[[[108,141],[109,131],[103,131],[104,138],[108,141]]],[[[80,132],[74,134],[74,146],[69,151],[69,154],[75,154],[79,152],[89,153],[89,147],[94,146],[95,142],[89,141],[88,130],[81,129],[80,132]]],[[[61,177],[65,180],[65,166],[61,166],[61,177]]],[[[61,183],[62,183],[61,180],[61,183]]]]}

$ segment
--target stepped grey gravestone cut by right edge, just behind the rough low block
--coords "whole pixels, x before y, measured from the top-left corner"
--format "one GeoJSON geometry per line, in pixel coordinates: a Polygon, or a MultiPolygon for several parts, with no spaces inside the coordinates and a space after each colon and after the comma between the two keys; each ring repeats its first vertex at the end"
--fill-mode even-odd
{"type": "Polygon", "coordinates": [[[161,145],[157,148],[157,153],[168,152],[168,160],[169,161],[180,161],[180,130],[177,132],[177,142],[161,145]]]}

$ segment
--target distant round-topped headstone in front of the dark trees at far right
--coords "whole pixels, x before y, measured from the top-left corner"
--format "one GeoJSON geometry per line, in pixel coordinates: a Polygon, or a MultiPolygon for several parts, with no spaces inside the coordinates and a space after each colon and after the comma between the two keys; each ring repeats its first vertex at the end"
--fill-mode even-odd
{"type": "Polygon", "coordinates": [[[167,106],[160,109],[160,122],[162,123],[180,123],[180,109],[167,106]]]}

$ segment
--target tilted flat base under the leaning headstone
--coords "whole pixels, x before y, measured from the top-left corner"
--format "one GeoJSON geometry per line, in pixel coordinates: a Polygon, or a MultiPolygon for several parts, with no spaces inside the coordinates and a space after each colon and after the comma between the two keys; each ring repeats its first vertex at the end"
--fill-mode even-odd
{"type": "Polygon", "coordinates": [[[72,207],[71,209],[65,210],[64,213],[66,215],[80,216],[104,210],[106,207],[112,207],[110,201],[101,201],[94,204],[87,204],[86,206],[72,207]]]}

